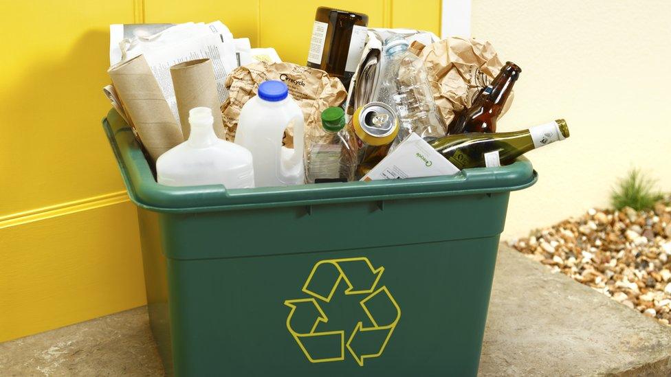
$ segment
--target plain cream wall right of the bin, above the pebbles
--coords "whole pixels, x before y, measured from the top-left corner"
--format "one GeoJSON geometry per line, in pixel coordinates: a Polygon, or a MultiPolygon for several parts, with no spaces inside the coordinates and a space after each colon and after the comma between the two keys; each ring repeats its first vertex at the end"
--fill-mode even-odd
{"type": "Polygon", "coordinates": [[[671,191],[671,1],[473,0],[472,36],[522,67],[499,130],[566,118],[571,138],[529,153],[503,239],[608,205],[632,167],[671,191]]]}

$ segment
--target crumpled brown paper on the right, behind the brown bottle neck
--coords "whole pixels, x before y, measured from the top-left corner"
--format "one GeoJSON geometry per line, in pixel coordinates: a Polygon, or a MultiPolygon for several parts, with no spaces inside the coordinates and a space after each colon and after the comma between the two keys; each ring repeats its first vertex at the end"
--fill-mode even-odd
{"type": "MultiPolygon", "coordinates": [[[[503,67],[491,43],[458,36],[424,47],[419,58],[424,61],[445,124],[452,122],[455,113],[470,107],[475,95],[492,82],[503,67]]],[[[513,95],[510,93],[502,115],[510,107],[513,95]]]]}

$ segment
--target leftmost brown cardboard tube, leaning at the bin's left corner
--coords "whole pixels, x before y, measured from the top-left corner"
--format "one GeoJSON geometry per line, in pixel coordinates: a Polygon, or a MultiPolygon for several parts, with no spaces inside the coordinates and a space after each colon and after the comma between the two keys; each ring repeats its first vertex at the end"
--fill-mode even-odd
{"type": "Polygon", "coordinates": [[[107,73],[154,162],[168,149],[184,141],[144,56],[113,65],[107,73]]]}

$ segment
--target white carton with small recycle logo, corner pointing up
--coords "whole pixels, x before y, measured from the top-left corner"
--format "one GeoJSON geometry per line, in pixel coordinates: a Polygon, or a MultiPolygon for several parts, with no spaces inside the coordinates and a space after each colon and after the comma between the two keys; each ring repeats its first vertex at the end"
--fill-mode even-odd
{"type": "Polygon", "coordinates": [[[411,133],[361,181],[452,175],[458,172],[459,168],[431,148],[419,135],[411,133]]]}

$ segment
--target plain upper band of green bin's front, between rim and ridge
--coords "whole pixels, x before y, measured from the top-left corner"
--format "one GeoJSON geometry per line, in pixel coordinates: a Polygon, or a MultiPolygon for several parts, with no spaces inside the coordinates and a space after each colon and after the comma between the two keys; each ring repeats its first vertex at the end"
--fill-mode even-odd
{"type": "Polygon", "coordinates": [[[168,258],[236,258],[498,235],[509,193],[161,214],[168,258]]]}

